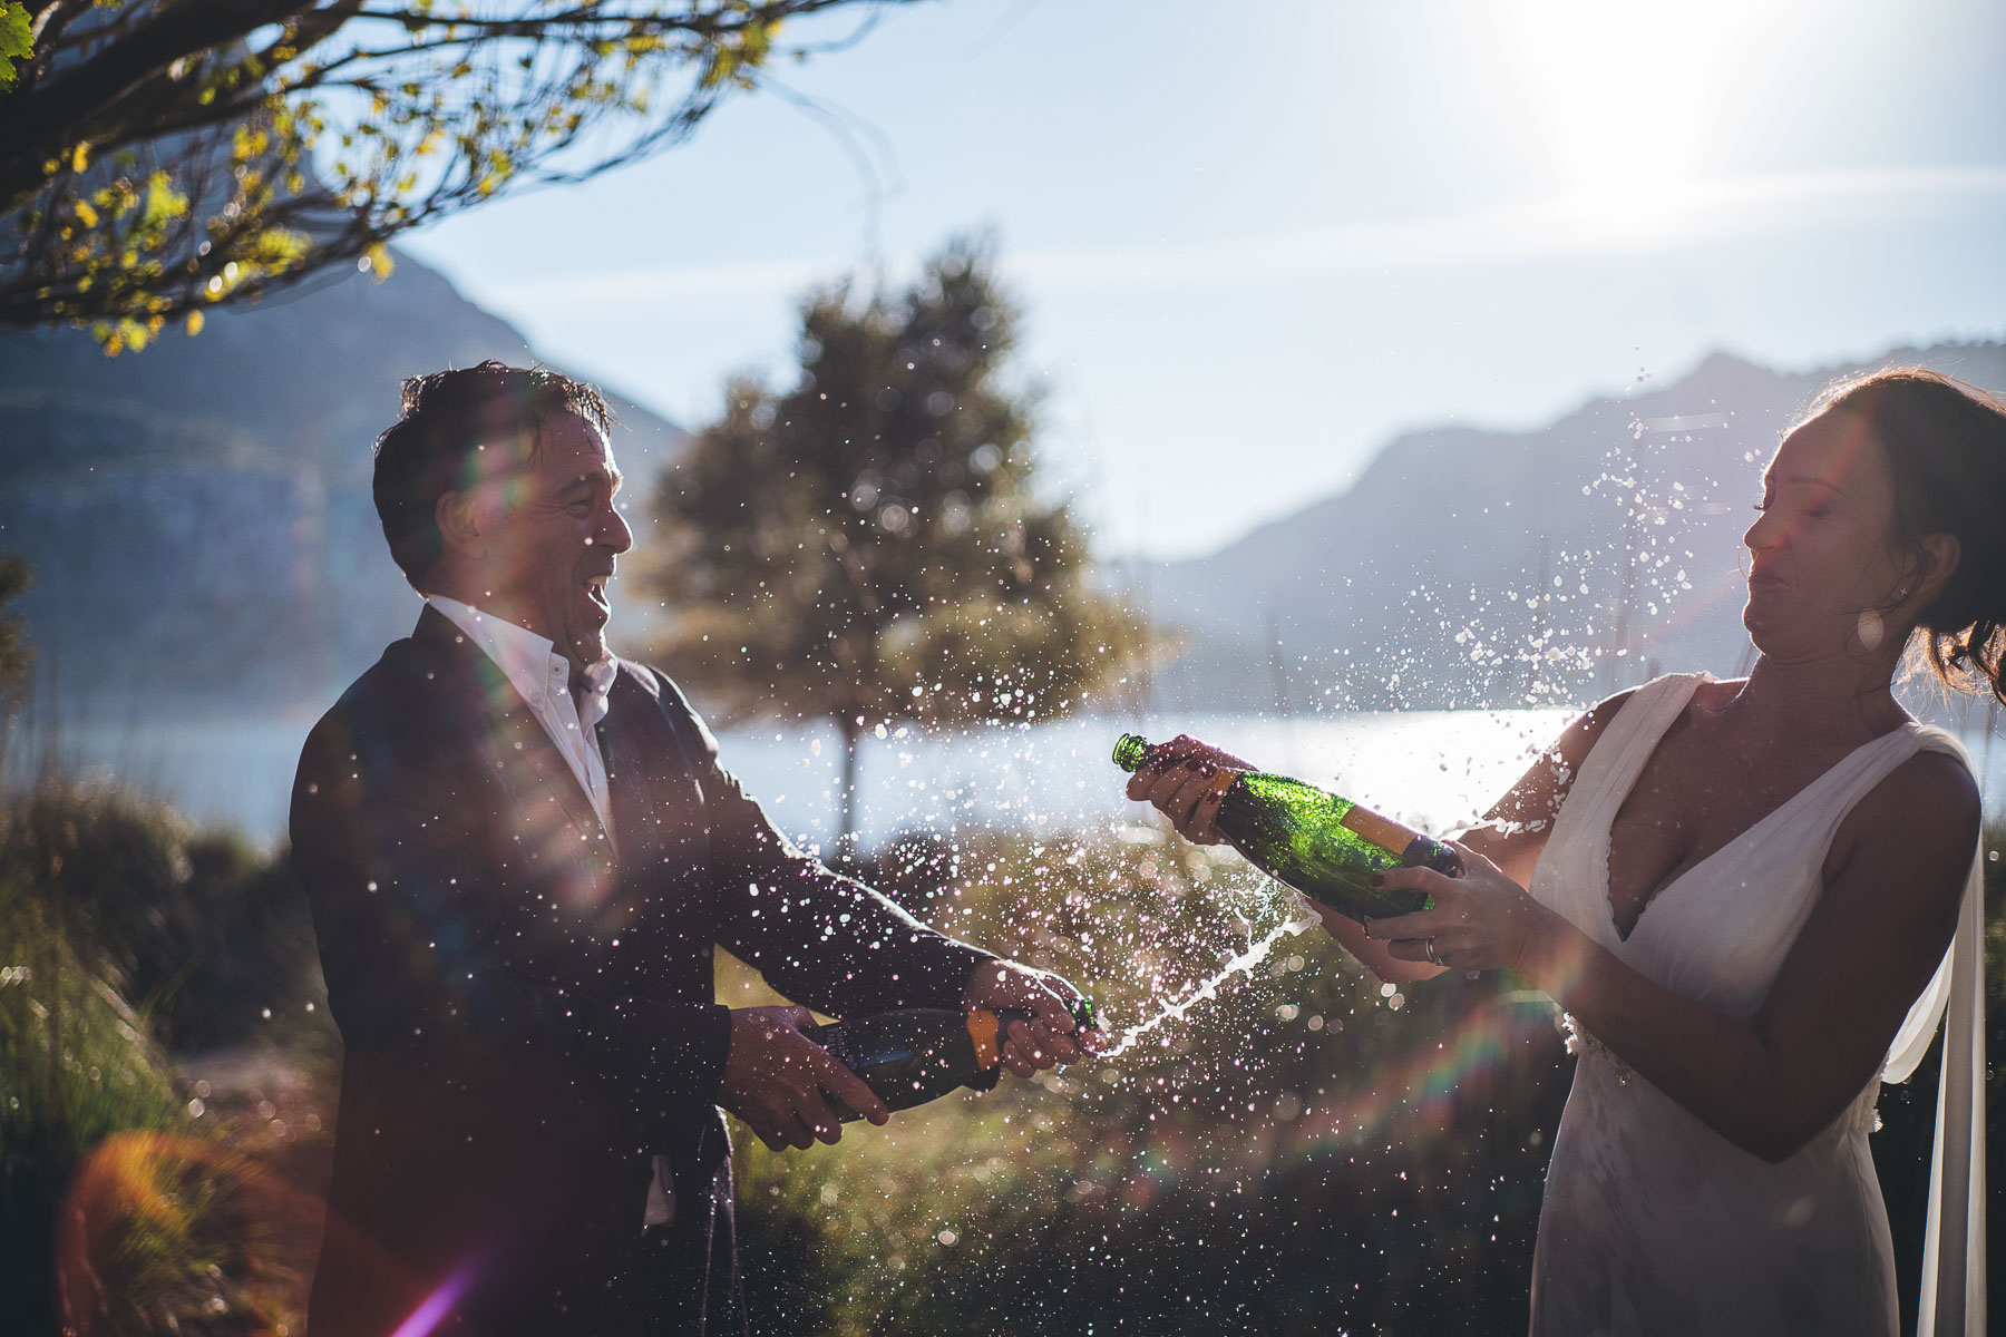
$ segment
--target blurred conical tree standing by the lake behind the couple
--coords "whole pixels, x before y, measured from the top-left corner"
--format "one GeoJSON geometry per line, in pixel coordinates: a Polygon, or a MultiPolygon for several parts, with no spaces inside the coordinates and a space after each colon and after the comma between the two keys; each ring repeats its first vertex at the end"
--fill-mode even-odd
{"type": "Polygon", "coordinates": [[[1047,720],[1139,651],[1071,509],[1035,485],[1015,323],[979,243],[897,297],[812,293],[794,385],[734,379],[656,483],[658,653],[726,718],[841,732],[843,846],[865,730],[1047,720]]]}

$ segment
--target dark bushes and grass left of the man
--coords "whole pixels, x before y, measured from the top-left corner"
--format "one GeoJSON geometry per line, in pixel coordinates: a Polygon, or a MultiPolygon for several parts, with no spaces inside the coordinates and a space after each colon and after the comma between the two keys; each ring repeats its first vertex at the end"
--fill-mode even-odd
{"type": "Polygon", "coordinates": [[[299,1297],[311,1205],[225,1149],[217,1117],[197,1123],[166,1050],[271,1040],[325,1058],[321,996],[283,860],[116,786],[44,784],[0,808],[10,1331],[271,1331],[299,1297]]]}

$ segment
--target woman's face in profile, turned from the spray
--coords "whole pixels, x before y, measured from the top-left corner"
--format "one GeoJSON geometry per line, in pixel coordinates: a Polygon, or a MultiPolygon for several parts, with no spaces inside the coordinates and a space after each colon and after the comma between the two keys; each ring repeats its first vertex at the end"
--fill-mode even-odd
{"type": "Polygon", "coordinates": [[[1757,509],[1741,539],[1749,547],[1741,623],[1757,649],[1781,659],[1858,653],[1862,609],[1886,611],[1906,583],[1892,553],[1888,453],[1866,419],[1827,411],[1783,437],[1763,469],[1757,509]]]}

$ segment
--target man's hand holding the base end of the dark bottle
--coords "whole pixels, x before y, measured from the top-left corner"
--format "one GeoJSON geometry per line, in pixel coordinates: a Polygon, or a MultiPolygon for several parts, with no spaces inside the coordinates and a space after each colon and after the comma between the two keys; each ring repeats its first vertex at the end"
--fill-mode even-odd
{"type": "Polygon", "coordinates": [[[766,1147],[834,1145],[843,1121],[822,1092],[883,1125],[891,1110],[863,1078],[800,1034],[808,1008],[732,1008],[732,1048],[724,1056],[718,1104],[738,1115],[766,1147]]]}

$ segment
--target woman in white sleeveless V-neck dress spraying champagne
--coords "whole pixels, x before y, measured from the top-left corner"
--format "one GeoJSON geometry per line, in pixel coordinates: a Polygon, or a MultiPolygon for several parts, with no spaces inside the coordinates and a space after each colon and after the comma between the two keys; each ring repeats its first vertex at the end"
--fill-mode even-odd
{"type": "MultiPolygon", "coordinates": [[[[1934,1032],[1954,932],[1972,978],[1922,1331],[1984,1325],[1982,1185],[1960,1209],[1982,1100],[1978,786],[1892,680],[1914,633],[1946,682],[2006,700],[2006,407],[1928,371],[1835,385],[1783,437],[1757,509],[1747,680],[1599,704],[1466,834],[1462,878],[1380,874],[1434,908],[1324,914],[1386,980],[1509,968],[1567,1012],[1581,1060],[1535,1333],[1898,1331],[1866,1137],[1880,1076],[1906,1078],[1934,1032]]],[[[1129,798],[1216,842],[1220,766],[1244,762],[1178,740],[1129,798]]]]}

